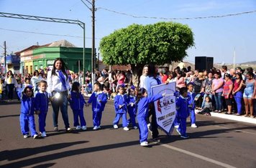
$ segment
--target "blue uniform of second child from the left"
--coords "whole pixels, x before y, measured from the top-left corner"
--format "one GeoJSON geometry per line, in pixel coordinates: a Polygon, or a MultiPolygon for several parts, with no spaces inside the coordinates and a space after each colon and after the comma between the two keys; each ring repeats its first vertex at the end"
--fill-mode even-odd
{"type": "Polygon", "coordinates": [[[45,120],[48,112],[48,93],[39,91],[35,95],[35,110],[39,110],[40,114],[38,114],[38,124],[39,124],[39,131],[45,132],[45,120]]]}

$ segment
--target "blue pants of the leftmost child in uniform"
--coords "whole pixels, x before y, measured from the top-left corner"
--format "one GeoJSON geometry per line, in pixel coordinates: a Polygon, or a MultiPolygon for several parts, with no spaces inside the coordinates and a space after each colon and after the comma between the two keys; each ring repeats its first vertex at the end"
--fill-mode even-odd
{"type": "Polygon", "coordinates": [[[37,134],[35,131],[35,117],[34,115],[20,114],[19,116],[20,128],[22,129],[22,134],[29,134],[29,129],[31,136],[37,134]]]}

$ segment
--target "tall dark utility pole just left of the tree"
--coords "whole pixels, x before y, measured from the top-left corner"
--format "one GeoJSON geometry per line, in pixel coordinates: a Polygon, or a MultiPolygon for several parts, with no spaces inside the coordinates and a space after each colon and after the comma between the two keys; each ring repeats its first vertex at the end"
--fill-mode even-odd
{"type": "Polygon", "coordinates": [[[91,11],[92,11],[92,47],[91,47],[91,81],[94,84],[95,82],[95,0],[91,1],[91,11]]]}

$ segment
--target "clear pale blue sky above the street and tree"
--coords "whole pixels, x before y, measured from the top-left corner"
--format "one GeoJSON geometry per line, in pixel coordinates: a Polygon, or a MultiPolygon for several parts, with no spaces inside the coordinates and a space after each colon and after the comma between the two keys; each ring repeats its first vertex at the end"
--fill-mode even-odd
{"type": "MultiPolygon", "coordinates": [[[[88,3],[91,0],[83,1],[91,7],[88,3]]],[[[116,29],[130,24],[175,21],[187,24],[194,34],[195,46],[187,50],[185,61],[194,62],[195,56],[212,56],[214,63],[229,64],[233,62],[234,55],[236,63],[256,61],[256,12],[208,19],[182,19],[244,11],[256,11],[256,0],[96,0],[97,52],[101,38],[116,29]]],[[[91,11],[81,0],[0,0],[0,12],[83,21],[86,24],[86,47],[92,46],[91,11]]],[[[62,39],[83,47],[83,29],[76,24],[0,17],[1,54],[4,53],[4,41],[7,54],[10,54],[37,43],[43,45],[62,39]]]]}

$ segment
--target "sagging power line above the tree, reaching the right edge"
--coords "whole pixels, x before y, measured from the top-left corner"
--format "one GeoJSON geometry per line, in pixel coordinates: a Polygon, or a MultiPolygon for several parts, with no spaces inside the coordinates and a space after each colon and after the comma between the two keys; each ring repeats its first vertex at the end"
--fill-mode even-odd
{"type": "Polygon", "coordinates": [[[122,14],[125,16],[131,16],[134,18],[142,18],[142,19],[164,19],[164,20],[188,20],[188,19],[212,19],[212,18],[223,18],[223,17],[228,17],[228,16],[239,16],[242,14],[252,14],[255,13],[255,11],[243,11],[240,13],[236,13],[236,14],[224,14],[224,15],[216,15],[216,16],[198,16],[198,17],[183,17],[183,18],[166,18],[166,17],[156,17],[156,16],[137,16],[137,15],[133,15],[133,14],[126,14],[123,12],[119,12],[119,11],[114,11],[111,9],[106,9],[104,7],[98,7],[97,9],[103,9],[105,11],[110,11],[113,12],[115,14],[122,14]]]}

